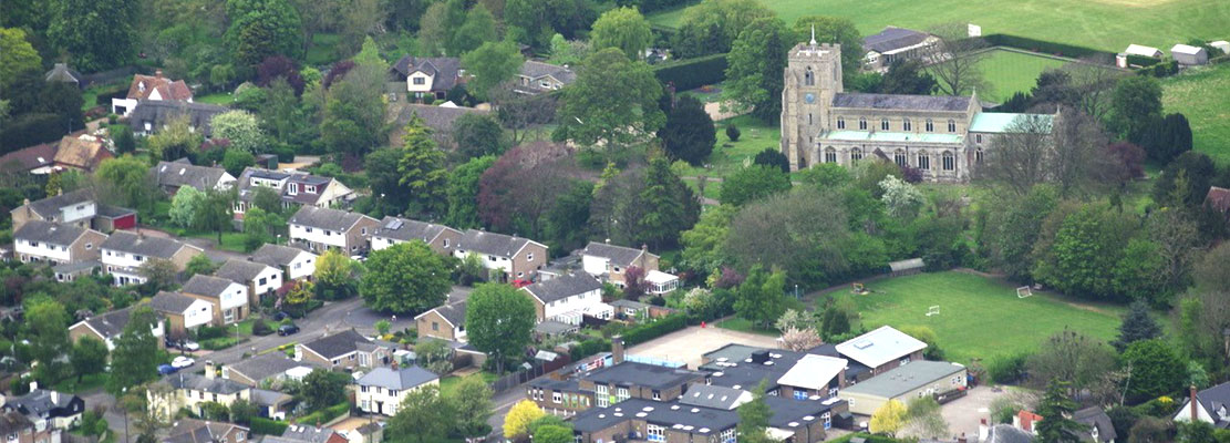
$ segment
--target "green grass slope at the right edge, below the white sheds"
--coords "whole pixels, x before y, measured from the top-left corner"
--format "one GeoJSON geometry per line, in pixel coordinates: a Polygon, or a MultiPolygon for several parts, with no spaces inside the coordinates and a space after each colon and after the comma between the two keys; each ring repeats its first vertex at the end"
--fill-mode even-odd
{"type": "Polygon", "coordinates": [[[1162,106],[1187,116],[1196,150],[1230,164],[1230,64],[1162,80],[1162,106]]]}

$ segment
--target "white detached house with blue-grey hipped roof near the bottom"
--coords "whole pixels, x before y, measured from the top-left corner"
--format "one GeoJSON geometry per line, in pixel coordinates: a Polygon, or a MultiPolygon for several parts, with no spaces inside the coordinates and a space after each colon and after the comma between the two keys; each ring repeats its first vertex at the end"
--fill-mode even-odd
{"type": "Polygon", "coordinates": [[[354,384],[358,385],[354,401],[360,411],[391,417],[410,393],[423,386],[439,386],[440,377],[413,364],[403,368],[395,365],[371,369],[354,384]]]}

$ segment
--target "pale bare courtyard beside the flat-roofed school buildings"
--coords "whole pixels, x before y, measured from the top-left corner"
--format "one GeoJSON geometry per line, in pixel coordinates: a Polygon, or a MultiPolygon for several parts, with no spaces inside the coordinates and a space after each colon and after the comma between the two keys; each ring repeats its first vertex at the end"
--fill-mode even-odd
{"type": "Polygon", "coordinates": [[[776,337],[724,330],[720,327],[691,326],[681,331],[664,335],[647,343],[627,349],[627,353],[661,358],[673,362],[685,362],[689,368],[699,367],[701,356],[727,343],[748,346],[777,347],[776,337]]]}

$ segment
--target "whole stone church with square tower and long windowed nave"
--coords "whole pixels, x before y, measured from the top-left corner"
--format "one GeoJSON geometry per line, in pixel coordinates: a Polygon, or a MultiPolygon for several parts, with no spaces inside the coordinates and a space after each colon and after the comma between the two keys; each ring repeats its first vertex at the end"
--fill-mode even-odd
{"type": "Polygon", "coordinates": [[[845,92],[841,46],[817,44],[814,36],[790,50],[785,81],[781,151],[791,171],[878,156],[918,169],[924,181],[968,182],[995,135],[1020,118],[1054,118],[983,112],[977,91],[969,97],[845,92]]]}

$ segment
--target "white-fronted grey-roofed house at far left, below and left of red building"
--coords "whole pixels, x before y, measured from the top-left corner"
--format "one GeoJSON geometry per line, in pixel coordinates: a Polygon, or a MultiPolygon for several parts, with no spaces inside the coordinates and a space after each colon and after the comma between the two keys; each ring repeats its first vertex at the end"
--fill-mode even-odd
{"type": "Polygon", "coordinates": [[[107,234],[73,224],[31,220],[12,233],[14,252],[22,263],[79,263],[98,260],[107,234]]]}

